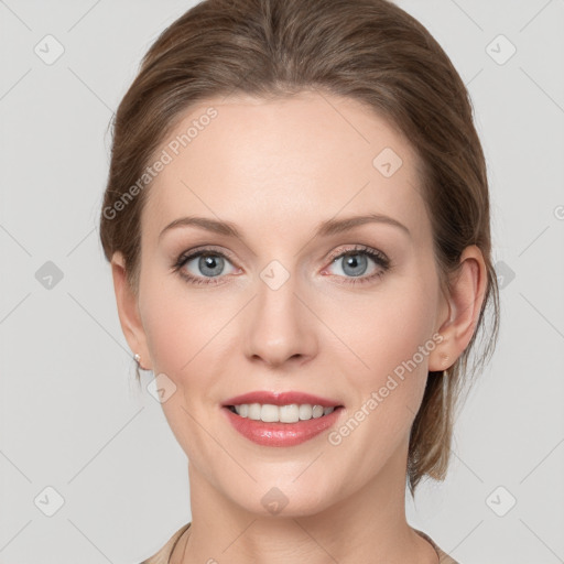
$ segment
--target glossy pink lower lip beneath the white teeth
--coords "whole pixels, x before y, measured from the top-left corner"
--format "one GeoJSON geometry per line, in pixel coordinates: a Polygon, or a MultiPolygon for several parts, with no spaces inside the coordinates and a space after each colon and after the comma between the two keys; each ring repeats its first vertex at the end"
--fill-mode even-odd
{"type": "Polygon", "coordinates": [[[295,446],[323,433],[335,424],[341,406],[335,408],[328,415],[297,423],[264,423],[241,417],[229,408],[223,408],[231,425],[245,437],[262,446],[295,446]]]}

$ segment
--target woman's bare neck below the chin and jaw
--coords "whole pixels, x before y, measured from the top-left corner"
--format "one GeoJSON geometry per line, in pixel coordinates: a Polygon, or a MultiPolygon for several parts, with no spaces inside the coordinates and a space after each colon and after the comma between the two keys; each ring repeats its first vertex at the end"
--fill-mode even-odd
{"type": "Polygon", "coordinates": [[[189,465],[192,524],[171,564],[436,564],[435,550],[405,520],[405,468],[406,448],[323,511],[273,516],[235,503],[189,465]]]}

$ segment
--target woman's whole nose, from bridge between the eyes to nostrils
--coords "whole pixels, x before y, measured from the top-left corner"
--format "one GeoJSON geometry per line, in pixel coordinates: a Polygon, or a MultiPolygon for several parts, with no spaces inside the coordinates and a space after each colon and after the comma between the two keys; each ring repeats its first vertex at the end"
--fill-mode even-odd
{"type": "Polygon", "coordinates": [[[312,314],[302,304],[299,276],[273,260],[259,273],[257,300],[250,314],[247,349],[250,358],[260,357],[280,365],[292,357],[315,352],[312,314]]]}

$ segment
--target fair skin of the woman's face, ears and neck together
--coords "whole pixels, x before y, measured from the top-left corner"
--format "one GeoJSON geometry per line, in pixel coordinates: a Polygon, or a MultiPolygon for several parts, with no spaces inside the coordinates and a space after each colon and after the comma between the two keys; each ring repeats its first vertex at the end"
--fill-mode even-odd
{"type": "MultiPolygon", "coordinates": [[[[427,371],[451,366],[471,338],[486,284],[481,252],[465,250],[443,295],[417,156],[359,102],[313,91],[216,98],[191,108],[170,139],[209,106],[218,117],[147,188],[138,294],[121,254],[112,258],[128,343],[176,387],[162,408],[189,460],[192,532],[171,562],[436,563],[405,520],[409,433],[427,371]],[[403,161],[390,177],[372,164],[384,148],[403,161]],[[410,234],[373,223],[315,237],[321,221],[367,213],[410,234]],[[188,215],[232,221],[241,238],[193,226],[159,238],[188,215]],[[352,285],[345,260],[329,253],[357,245],[392,267],[352,285]],[[197,258],[183,270],[217,284],[191,284],[171,268],[202,246],[229,253],[220,274],[198,270],[197,258]],[[272,260],[290,274],[275,291],[260,276],[272,260]],[[221,412],[236,394],[299,390],[344,404],[338,427],[436,334],[443,341],[338,446],[327,433],[259,446],[221,412]],[[278,514],[261,502],[273,487],[288,499],[278,514]]],[[[369,257],[362,265],[360,278],[382,271],[369,257]]]]}

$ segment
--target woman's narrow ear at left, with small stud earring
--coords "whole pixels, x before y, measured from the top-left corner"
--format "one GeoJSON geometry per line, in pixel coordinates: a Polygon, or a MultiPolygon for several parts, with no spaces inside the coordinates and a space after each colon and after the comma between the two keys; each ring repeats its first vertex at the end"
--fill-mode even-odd
{"type": "Polygon", "coordinates": [[[139,361],[141,368],[150,370],[151,359],[145,332],[139,314],[138,295],[127,280],[126,261],[119,251],[116,251],[111,258],[111,275],[121,330],[133,354],[137,352],[141,357],[139,361]]]}

